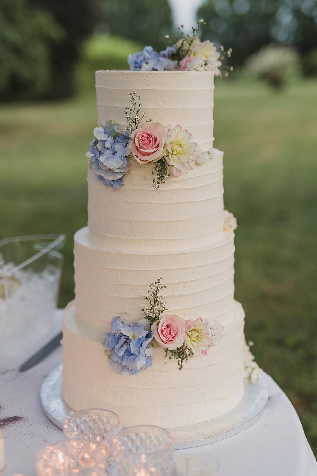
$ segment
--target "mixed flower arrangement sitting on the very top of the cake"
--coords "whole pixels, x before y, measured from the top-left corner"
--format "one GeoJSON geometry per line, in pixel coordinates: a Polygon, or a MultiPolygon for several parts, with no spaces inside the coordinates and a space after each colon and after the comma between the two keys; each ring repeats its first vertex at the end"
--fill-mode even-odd
{"type": "Polygon", "coordinates": [[[178,30],[180,33],[172,42],[169,35],[165,38],[168,45],[165,50],[154,51],[151,46],[146,46],[143,51],[129,55],[128,63],[132,71],[213,71],[216,76],[221,76],[221,70],[228,76],[232,66],[224,66],[223,61],[230,58],[232,49],[217,48],[211,41],[201,41],[201,28],[206,24],[203,19],[198,20],[197,26],[192,27],[191,34],[184,33],[184,26],[178,30]]]}

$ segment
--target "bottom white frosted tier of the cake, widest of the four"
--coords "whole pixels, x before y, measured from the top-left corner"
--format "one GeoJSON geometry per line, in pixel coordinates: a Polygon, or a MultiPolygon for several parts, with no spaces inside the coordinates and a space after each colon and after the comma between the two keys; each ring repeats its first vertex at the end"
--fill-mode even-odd
{"type": "Polygon", "coordinates": [[[80,326],[76,303],[65,309],[62,394],[73,410],[105,408],[123,426],[174,428],[219,417],[243,396],[244,310],[235,302],[234,319],[207,355],[190,358],[183,369],[155,349],[153,363],[139,375],[110,369],[99,337],[80,326]]]}

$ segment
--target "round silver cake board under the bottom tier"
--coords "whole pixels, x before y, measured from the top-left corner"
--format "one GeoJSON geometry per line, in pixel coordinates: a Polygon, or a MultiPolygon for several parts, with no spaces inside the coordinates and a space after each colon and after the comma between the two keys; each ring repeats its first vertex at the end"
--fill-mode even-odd
{"type": "MultiPolygon", "coordinates": [[[[63,428],[65,418],[73,410],[64,402],[61,394],[62,365],[60,364],[45,378],[40,391],[44,413],[59,428],[63,428]]],[[[174,439],[174,449],[193,448],[209,445],[253,425],[259,418],[268,399],[268,386],[264,372],[260,373],[256,384],[245,381],[244,396],[237,407],[225,415],[198,425],[168,428],[174,439]]]]}

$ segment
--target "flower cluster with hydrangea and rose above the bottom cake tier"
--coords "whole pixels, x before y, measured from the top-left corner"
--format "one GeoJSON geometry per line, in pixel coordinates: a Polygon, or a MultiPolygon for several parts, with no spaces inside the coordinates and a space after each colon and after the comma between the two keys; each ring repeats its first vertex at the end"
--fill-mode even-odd
{"type": "Polygon", "coordinates": [[[179,370],[188,358],[206,355],[223,335],[223,328],[213,319],[183,319],[168,311],[163,296],[161,278],[149,285],[145,296],[148,307],[145,318],[134,323],[114,317],[110,332],[105,332],[104,351],[111,369],[123,375],[137,375],[152,365],[156,347],[163,347],[166,357],[178,361],[179,370]]]}

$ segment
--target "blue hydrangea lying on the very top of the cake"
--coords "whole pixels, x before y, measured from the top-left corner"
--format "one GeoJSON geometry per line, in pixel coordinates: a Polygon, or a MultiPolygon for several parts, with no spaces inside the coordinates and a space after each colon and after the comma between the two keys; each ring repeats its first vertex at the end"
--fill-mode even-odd
{"type": "Polygon", "coordinates": [[[128,63],[131,71],[163,71],[175,69],[176,61],[168,58],[173,54],[172,48],[157,53],[151,46],[146,46],[143,51],[129,55],[128,63]]]}

